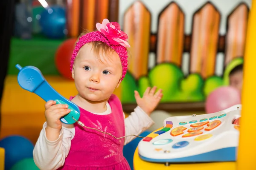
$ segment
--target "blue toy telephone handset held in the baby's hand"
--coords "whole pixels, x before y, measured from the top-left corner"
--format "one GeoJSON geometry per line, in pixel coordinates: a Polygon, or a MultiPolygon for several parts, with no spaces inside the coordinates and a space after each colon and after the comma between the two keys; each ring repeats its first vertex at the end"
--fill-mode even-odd
{"type": "Polygon", "coordinates": [[[61,122],[65,124],[73,124],[76,120],[79,120],[80,110],[79,107],[61,96],[57,91],[55,91],[51,85],[46,81],[41,71],[34,66],[21,67],[16,65],[19,70],[17,80],[21,88],[37,94],[46,102],[49,100],[55,100],[57,104],[67,104],[70,109],[70,113],[61,118],[61,122]],[[75,120],[74,120],[74,119],[75,120]]]}

